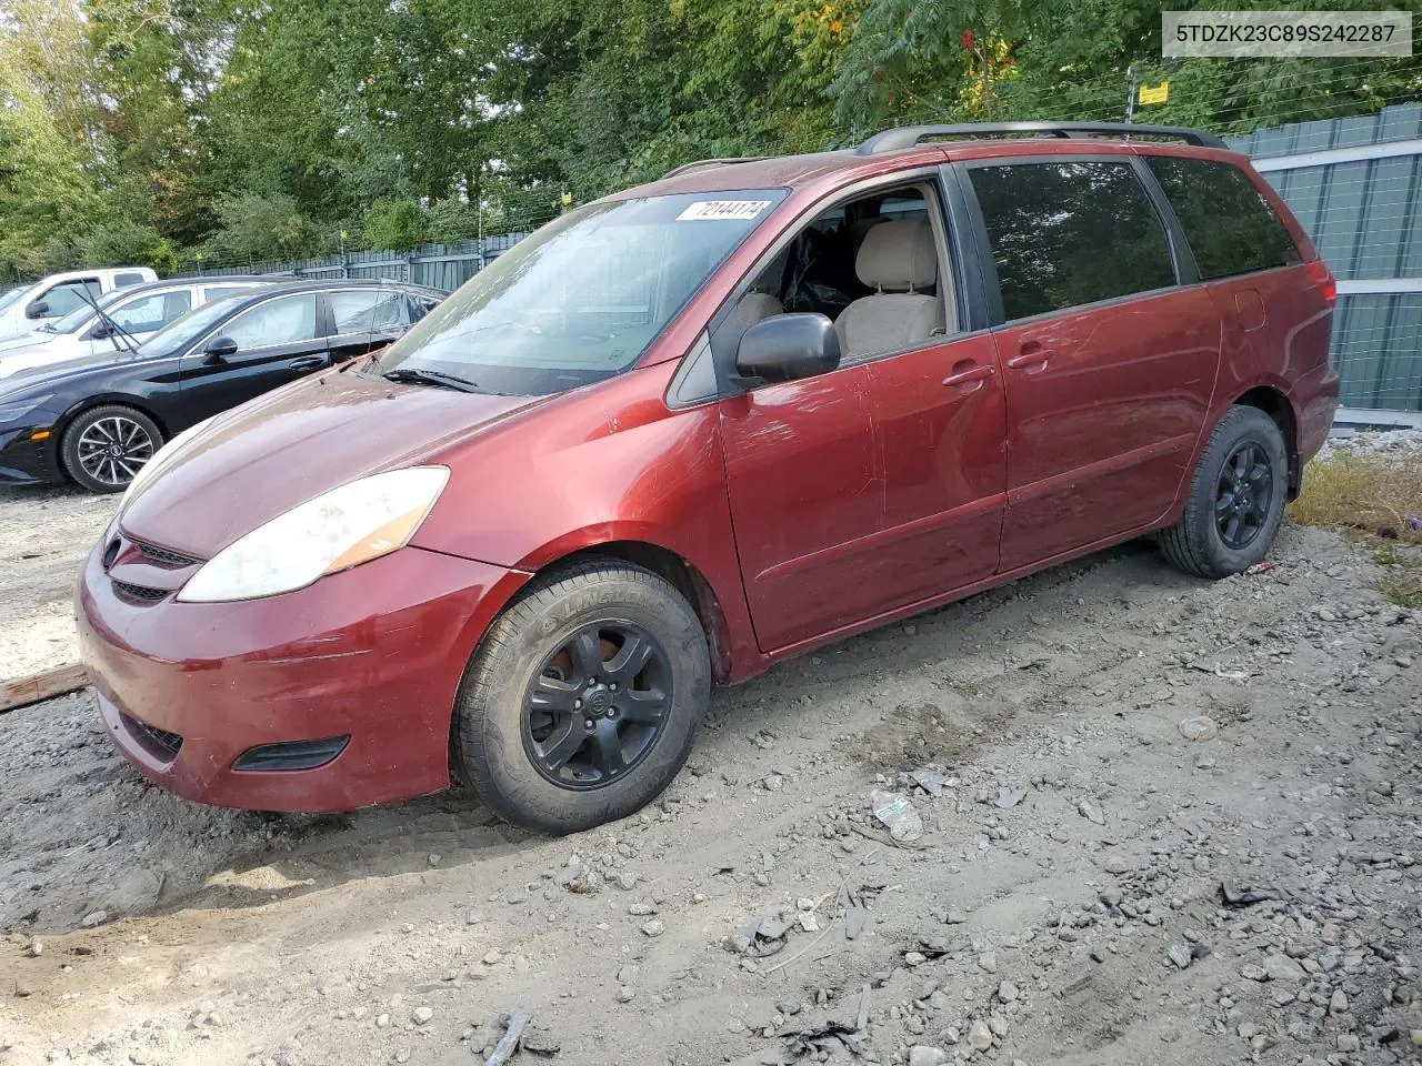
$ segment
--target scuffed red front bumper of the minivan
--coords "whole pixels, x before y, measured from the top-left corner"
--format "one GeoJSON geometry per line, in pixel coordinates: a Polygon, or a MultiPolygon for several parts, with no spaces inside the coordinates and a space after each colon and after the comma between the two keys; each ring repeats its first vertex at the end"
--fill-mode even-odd
{"type": "Polygon", "coordinates": [[[115,588],[102,553],[85,563],[75,613],[109,736],[156,785],[255,810],[351,810],[447,787],[465,664],[526,580],[407,547],[296,593],[188,604],[115,588]],[[346,736],[316,769],[233,768],[253,748],[346,736]]]}

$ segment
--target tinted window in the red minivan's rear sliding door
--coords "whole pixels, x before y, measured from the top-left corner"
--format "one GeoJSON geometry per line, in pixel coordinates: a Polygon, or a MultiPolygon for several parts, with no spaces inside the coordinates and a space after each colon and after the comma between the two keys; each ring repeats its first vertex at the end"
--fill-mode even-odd
{"type": "Polygon", "coordinates": [[[1160,216],[1129,162],[968,169],[1008,321],[1173,286],[1160,216]]]}

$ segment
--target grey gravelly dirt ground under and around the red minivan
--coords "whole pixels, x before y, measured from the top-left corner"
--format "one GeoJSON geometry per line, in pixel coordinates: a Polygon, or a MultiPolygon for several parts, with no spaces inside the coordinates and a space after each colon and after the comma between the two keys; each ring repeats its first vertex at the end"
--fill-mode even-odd
{"type": "MultiPolygon", "coordinates": [[[[9,669],[108,506],[0,499],[9,669]]],[[[215,812],[87,695],[3,715],[0,1066],[482,1063],[518,1011],[515,1065],[1419,1062],[1422,613],[1328,533],[1274,564],[1128,544],[784,664],[562,840],[215,812]]]]}

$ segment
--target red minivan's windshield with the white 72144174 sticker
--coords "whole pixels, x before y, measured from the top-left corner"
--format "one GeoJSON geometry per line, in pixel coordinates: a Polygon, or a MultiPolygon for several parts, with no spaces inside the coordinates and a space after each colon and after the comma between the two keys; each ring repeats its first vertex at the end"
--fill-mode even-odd
{"type": "Polygon", "coordinates": [[[784,198],[683,193],[570,212],[475,274],[368,372],[513,395],[619,374],[784,198]]]}

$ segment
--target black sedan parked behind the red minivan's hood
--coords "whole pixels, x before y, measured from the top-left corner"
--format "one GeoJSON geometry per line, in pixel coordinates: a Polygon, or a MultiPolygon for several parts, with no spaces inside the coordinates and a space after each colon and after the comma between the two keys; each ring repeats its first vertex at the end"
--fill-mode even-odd
{"type": "Polygon", "coordinates": [[[0,381],[0,485],[118,492],[175,434],[400,337],[444,293],[299,281],[205,304],[132,351],[0,381]]]}

